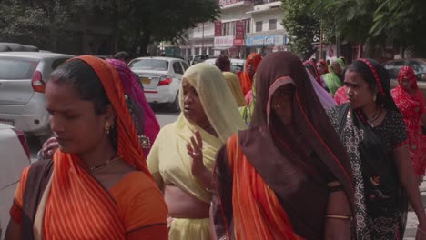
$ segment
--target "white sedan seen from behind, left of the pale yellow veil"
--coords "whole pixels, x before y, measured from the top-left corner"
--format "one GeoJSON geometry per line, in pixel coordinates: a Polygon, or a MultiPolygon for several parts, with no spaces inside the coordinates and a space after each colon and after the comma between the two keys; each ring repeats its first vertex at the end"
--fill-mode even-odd
{"type": "Polygon", "coordinates": [[[189,67],[186,61],[174,57],[139,57],[128,66],[142,82],[148,103],[166,104],[173,111],[180,110],[178,91],[189,67]]]}

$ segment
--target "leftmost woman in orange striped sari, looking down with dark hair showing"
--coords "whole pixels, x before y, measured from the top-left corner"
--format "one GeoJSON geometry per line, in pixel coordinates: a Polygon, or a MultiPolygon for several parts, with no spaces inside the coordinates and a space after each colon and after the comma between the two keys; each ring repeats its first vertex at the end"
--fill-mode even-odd
{"type": "Polygon", "coordinates": [[[46,109],[59,149],[24,170],[6,239],[167,239],[167,206],[119,77],[93,56],[52,73],[46,109]]]}

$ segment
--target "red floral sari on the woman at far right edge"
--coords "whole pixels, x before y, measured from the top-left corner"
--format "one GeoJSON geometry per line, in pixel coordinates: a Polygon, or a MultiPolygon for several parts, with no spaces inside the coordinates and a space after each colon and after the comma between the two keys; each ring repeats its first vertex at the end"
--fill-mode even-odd
{"type": "Polygon", "coordinates": [[[397,88],[392,90],[392,97],[404,116],[409,137],[410,157],[415,175],[424,175],[426,170],[426,136],[421,130],[421,115],[426,112],[424,98],[417,86],[416,75],[411,66],[403,66],[398,74],[397,88]],[[401,81],[409,79],[414,93],[401,87],[401,81]]]}

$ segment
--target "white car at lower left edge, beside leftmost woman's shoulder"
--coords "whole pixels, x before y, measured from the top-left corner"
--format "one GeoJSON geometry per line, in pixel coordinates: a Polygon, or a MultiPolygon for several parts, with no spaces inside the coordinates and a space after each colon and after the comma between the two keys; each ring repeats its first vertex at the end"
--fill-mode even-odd
{"type": "Polygon", "coordinates": [[[16,185],[22,170],[30,165],[25,135],[12,125],[0,124],[0,154],[0,239],[4,239],[16,185]]]}

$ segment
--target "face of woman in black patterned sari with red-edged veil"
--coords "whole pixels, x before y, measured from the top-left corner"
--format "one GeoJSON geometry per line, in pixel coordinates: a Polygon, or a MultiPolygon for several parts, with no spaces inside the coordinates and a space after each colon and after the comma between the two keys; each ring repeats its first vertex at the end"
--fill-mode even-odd
{"type": "Polygon", "coordinates": [[[362,108],[374,103],[375,93],[360,73],[347,71],[344,85],[348,102],[353,108],[362,108]]]}

